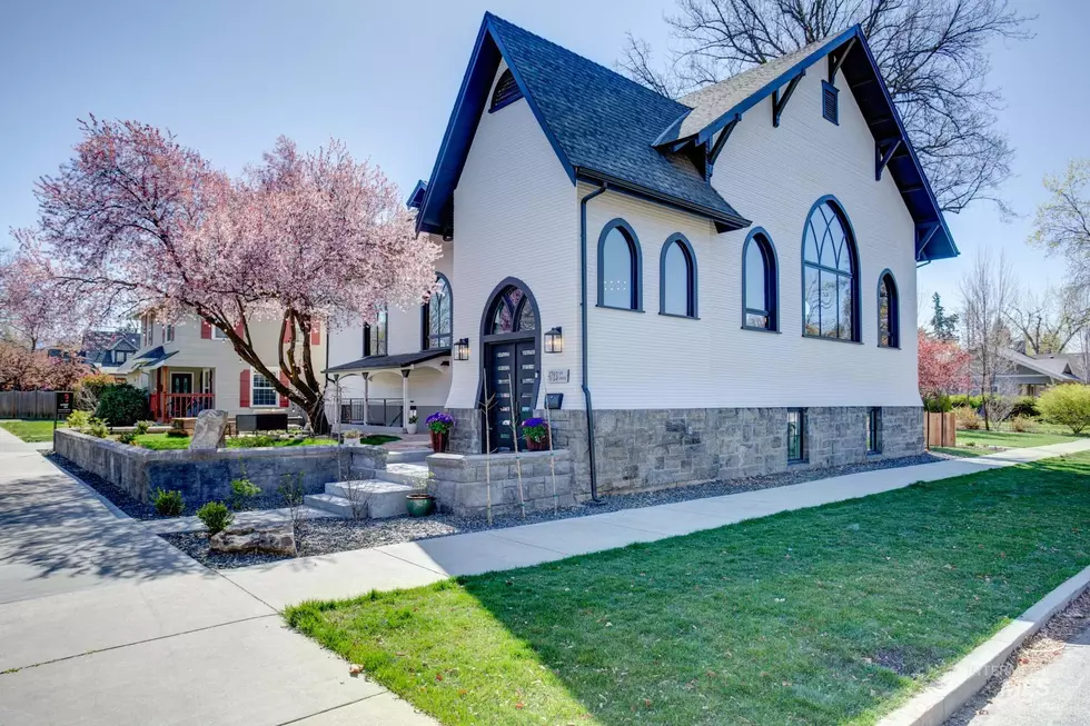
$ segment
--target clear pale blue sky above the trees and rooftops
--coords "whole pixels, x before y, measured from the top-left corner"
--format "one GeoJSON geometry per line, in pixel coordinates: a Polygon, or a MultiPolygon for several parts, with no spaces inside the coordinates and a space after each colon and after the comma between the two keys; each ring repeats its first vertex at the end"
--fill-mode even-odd
{"type": "MultiPolygon", "coordinates": [[[[1086,155],[1090,96],[1079,60],[1090,3],[1017,0],[1037,33],[992,48],[1003,130],[1017,150],[1004,222],[982,203],[948,216],[962,251],[920,270],[920,296],[955,307],[975,251],[1003,249],[1023,285],[1063,277],[1060,260],[1025,245],[1041,178],[1086,155]]],[[[14,0],[0,8],[0,232],[34,221],[33,181],[78,140],[77,118],[167,127],[236,172],[280,135],[304,148],[330,137],[369,157],[407,193],[435,152],[485,10],[606,66],[632,30],[666,43],[671,0],[412,3],[257,0],[86,2],[14,0]],[[577,19],[577,21],[573,21],[577,19]]],[[[921,310],[921,318],[930,312],[921,310]]]]}

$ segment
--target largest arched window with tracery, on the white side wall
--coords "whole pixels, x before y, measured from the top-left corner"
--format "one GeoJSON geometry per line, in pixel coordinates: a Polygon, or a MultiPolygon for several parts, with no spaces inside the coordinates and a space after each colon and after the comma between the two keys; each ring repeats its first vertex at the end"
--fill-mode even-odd
{"type": "Polygon", "coordinates": [[[814,205],[802,236],[803,335],[860,340],[859,259],[851,225],[831,197],[814,205]]]}

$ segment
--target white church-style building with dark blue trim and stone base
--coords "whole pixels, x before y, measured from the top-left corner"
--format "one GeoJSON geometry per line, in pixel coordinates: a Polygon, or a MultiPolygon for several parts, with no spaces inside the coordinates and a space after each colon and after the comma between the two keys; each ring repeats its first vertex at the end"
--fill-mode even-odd
{"type": "Polygon", "coordinates": [[[958,250],[858,27],[671,100],[486,14],[409,205],[436,345],[390,311],[329,374],[445,407],[454,451],[546,405],[584,493],[923,448],[915,270],[958,250]]]}

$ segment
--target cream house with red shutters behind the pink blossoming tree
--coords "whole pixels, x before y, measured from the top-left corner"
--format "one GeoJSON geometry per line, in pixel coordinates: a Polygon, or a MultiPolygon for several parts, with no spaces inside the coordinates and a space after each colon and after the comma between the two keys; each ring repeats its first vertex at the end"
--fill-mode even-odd
{"type": "MultiPolygon", "coordinates": [[[[270,370],[278,371],[279,320],[251,321],[249,327],[258,356],[270,370]]],[[[321,332],[315,330],[310,336],[317,370],[326,361],[321,332]]],[[[288,399],[238,357],[224,331],[196,316],[166,325],[145,315],[138,335],[140,349],[118,374],[148,390],[156,420],[196,416],[209,408],[226,410],[230,416],[289,408],[288,399]]],[[[291,345],[301,349],[299,341],[291,345]]]]}

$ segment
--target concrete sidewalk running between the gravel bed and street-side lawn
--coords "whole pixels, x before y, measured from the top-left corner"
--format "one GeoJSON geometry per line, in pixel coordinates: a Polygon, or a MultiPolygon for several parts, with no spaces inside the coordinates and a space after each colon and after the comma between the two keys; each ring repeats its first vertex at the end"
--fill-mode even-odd
{"type": "Polygon", "coordinates": [[[780,511],[865,497],[916,481],[948,479],[1087,450],[1090,450],[1090,439],[1012,449],[974,459],[878,469],[760,491],[301,557],[224,570],[222,575],[262,601],[283,609],[307,599],[346,598],[371,589],[416,587],[457,575],[538,565],[637,541],[714,529],[780,511]]]}

